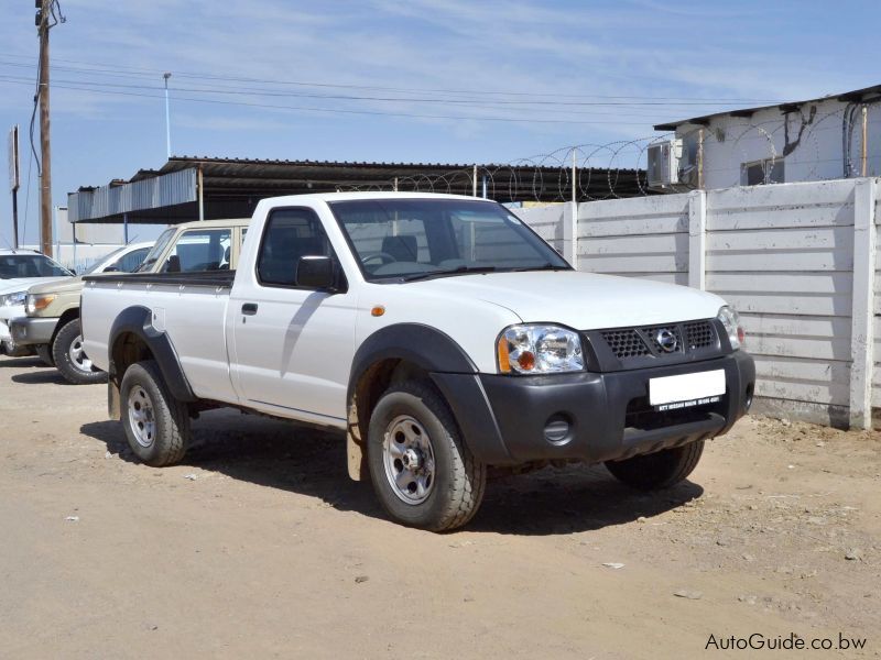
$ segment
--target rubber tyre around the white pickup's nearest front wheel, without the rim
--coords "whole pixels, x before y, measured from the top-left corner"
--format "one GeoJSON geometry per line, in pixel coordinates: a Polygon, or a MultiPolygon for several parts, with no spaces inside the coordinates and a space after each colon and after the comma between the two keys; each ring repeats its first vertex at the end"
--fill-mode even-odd
{"type": "Polygon", "coordinates": [[[469,451],[453,413],[431,383],[406,381],[385,391],[370,416],[367,458],[380,503],[392,518],[409,527],[431,531],[461,527],[483,499],[487,468],[469,451]],[[402,415],[424,427],[434,452],[434,484],[427,499],[420,504],[403,502],[385,473],[384,435],[402,415]]]}

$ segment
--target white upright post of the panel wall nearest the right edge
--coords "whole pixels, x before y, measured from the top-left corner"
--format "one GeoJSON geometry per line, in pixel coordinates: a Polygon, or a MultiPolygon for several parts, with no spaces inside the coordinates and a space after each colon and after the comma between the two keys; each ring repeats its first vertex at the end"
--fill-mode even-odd
{"type": "Polygon", "coordinates": [[[875,179],[853,187],[853,282],[850,326],[850,428],[872,428],[874,371],[875,179]]]}

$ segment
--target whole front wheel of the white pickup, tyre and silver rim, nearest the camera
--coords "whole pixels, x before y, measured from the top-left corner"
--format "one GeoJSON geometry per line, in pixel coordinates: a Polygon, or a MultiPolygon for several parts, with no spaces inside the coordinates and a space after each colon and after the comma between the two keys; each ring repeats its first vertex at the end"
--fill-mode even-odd
{"type": "Polygon", "coordinates": [[[444,531],[480,507],[486,465],[428,383],[407,381],[382,395],[370,417],[367,458],[377,497],[399,522],[444,531]]]}

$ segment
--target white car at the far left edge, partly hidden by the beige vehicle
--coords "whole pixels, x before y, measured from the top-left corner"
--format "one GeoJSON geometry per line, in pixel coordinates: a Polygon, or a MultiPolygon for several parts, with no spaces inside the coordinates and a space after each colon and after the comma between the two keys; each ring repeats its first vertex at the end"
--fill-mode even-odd
{"type": "MultiPolygon", "coordinates": [[[[24,315],[29,287],[73,276],[70,271],[40,252],[0,250],[0,352],[15,358],[33,354],[32,346],[19,345],[13,340],[9,332],[10,319],[24,315]]],[[[48,360],[45,351],[41,356],[48,360]]]]}

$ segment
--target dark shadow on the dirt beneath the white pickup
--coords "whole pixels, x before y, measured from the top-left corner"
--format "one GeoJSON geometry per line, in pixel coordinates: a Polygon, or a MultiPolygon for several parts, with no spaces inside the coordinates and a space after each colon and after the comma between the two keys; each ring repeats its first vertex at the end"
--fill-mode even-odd
{"type": "MultiPolygon", "coordinates": [[[[139,463],[119,422],[86,424],[80,432],[104,442],[111,454],[139,463]]],[[[370,485],[349,480],[345,451],[341,433],[224,409],[193,422],[193,443],[183,464],[388,519],[370,485]]],[[[618,483],[602,466],[546,468],[490,481],[483,505],[465,529],[521,536],[590,531],[651,519],[703,492],[686,481],[645,494],[618,483]]]]}

